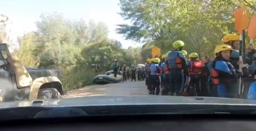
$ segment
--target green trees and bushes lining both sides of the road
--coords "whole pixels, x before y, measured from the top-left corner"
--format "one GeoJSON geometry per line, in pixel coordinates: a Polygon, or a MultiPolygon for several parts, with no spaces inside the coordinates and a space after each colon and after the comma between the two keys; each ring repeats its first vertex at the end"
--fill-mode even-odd
{"type": "MultiPolygon", "coordinates": [[[[255,15],[256,1],[241,1],[255,15]]],[[[120,0],[119,6],[131,24],[118,25],[116,31],[142,47],[123,49],[107,38],[106,24],[53,12],[40,16],[37,31],[19,38],[17,55],[27,67],[59,69],[69,90],[92,84],[93,77],[110,70],[114,58],[128,66],[145,63],[153,46],[166,53],[175,40],[183,40],[188,53],[214,56],[222,36],[236,33],[232,10],[239,0],[120,0]]]]}

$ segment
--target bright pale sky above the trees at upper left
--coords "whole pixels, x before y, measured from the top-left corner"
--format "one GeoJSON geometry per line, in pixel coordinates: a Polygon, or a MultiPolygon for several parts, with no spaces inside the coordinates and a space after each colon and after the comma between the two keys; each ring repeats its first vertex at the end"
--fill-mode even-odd
{"type": "Polygon", "coordinates": [[[123,35],[117,34],[117,24],[129,24],[118,15],[119,0],[0,0],[1,14],[9,17],[11,38],[37,30],[35,22],[40,20],[42,13],[59,12],[67,19],[83,18],[87,22],[104,22],[109,29],[109,38],[122,43],[123,48],[137,47],[141,44],[125,40],[123,35]]]}

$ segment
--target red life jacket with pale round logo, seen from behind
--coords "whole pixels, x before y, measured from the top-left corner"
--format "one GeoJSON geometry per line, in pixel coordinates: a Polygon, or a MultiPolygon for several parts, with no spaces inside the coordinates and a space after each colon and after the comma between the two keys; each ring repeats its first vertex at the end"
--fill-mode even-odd
{"type": "Polygon", "coordinates": [[[189,74],[190,75],[199,75],[199,74],[201,74],[203,67],[204,67],[204,62],[191,61],[191,65],[189,67],[189,74]]]}

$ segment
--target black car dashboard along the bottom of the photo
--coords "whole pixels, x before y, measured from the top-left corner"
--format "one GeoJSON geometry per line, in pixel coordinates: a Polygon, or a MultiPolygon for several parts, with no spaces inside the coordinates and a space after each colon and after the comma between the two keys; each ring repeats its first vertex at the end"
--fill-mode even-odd
{"type": "Polygon", "coordinates": [[[255,130],[255,116],[158,114],[85,116],[2,121],[1,130],[242,131],[255,130]]]}

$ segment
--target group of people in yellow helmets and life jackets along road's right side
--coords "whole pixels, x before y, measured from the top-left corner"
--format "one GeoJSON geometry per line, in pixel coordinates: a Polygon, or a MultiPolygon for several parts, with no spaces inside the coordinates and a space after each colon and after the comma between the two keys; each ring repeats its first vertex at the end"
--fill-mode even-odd
{"type": "Polygon", "coordinates": [[[255,49],[249,45],[246,58],[239,60],[239,35],[229,34],[223,37],[223,44],[214,49],[215,58],[201,59],[196,52],[189,54],[183,50],[184,42],[173,43],[174,50],[160,58],[147,59],[145,64],[145,84],[149,94],[176,96],[212,96],[239,98],[239,79],[256,75],[254,62],[255,49]],[[249,64],[242,72],[239,66],[249,64]]]}

